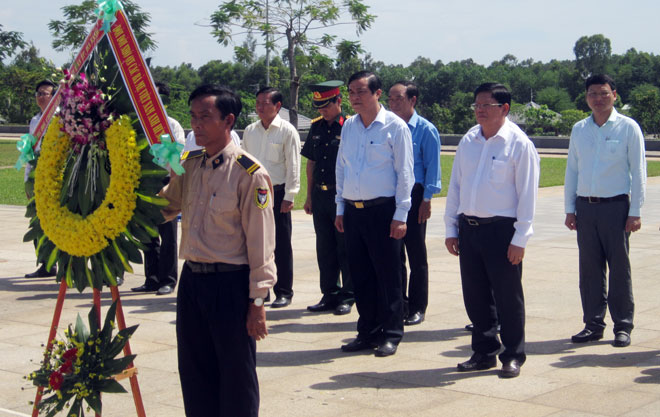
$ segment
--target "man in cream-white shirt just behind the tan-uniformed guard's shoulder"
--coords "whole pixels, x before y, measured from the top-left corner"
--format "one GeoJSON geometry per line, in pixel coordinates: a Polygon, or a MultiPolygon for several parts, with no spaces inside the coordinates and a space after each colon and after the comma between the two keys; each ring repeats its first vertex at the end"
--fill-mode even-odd
{"type": "Polygon", "coordinates": [[[259,120],[243,132],[243,149],[263,164],[273,182],[277,283],[271,308],[286,307],[293,298],[291,209],[300,190],[300,136],[279,116],[281,107],[282,93],[273,87],[262,88],[256,102],[259,120]]]}

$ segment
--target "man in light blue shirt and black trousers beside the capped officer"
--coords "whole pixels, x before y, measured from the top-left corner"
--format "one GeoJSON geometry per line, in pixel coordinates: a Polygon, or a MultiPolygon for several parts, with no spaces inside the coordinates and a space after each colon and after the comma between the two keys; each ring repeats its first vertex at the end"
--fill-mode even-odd
{"type": "Polygon", "coordinates": [[[396,353],[403,337],[401,239],[414,183],[412,138],[406,123],[378,100],[380,79],[360,71],[348,80],[357,112],[346,120],[337,154],[337,230],[345,233],[348,267],[360,317],[344,352],[396,353]]]}

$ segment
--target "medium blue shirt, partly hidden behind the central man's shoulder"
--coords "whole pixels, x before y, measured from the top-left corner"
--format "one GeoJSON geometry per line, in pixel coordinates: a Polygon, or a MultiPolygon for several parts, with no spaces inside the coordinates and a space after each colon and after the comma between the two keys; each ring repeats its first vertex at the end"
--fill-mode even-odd
{"type": "Polygon", "coordinates": [[[424,186],[424,198],[431,199],[440,192],[440,134],[425,118],[413,112],[408,120],[412,133],[415,182],[424,186]]]}

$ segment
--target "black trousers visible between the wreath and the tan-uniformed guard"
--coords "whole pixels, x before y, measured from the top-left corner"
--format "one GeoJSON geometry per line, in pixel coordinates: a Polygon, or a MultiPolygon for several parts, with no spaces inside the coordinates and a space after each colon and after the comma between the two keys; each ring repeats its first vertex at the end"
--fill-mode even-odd
{"type": "Polygon", "coordinates": [[[158,289],[164,285],[176,286],[177,281],[177,222],[158,225],[160,237],[151,240],[149,250],[144,252],[144,285],[158,289]]]}

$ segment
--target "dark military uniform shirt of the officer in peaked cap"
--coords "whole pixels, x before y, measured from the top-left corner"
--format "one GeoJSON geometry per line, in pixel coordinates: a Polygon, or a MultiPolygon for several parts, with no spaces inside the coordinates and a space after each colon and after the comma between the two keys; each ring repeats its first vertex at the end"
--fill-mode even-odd
{"type": "Polygon", "coordinates": [[[316,163],[312,173],[316,185],[335,185],[335,163],[344,120],[346,117],[340,114],[328,125],[323,117],[319,117],[309,128],[307,140],[300,154],[316,163]]]}

